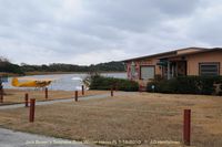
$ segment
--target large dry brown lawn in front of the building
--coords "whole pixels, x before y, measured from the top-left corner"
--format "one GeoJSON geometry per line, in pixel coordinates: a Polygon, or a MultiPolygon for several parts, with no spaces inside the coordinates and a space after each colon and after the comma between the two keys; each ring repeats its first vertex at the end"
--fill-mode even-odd
{"type": "Polygon", "coordinates": [[[181,147],[183,109],[192,109],[191,145],[222,146],[222,97],[132,93],[101,99],[0,111],[0,127],[85,143],[181,147]],[[142,145],[140,145],[142,144],[142,145]]]}

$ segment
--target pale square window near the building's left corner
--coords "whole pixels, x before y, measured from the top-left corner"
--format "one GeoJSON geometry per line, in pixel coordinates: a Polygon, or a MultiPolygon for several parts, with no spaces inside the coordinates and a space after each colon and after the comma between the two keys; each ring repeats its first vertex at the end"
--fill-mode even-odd
{"type": "Polygon", "coordinates": [[[154,66],[141,66],[140,67],[140,78],[141,80],[154,78],[154,74],[155,74],[154,66]]]}

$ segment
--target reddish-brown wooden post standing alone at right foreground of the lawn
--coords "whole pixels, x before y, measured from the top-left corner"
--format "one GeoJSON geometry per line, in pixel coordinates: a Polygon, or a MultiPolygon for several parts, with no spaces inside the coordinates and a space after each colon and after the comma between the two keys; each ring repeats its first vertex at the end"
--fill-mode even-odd
{"type": "Polygon", "coordinates": [[[186,146],[191,145],[191,109],[184,109],[183,143],[186,146]]]}

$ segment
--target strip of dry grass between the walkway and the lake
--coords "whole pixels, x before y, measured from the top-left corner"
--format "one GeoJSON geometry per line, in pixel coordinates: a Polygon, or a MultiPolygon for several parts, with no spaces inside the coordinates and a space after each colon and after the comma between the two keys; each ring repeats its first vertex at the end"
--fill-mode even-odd
{"type": "MultiPolygon", "coordinates": [[[[36,98],[37,101],[47,101],[44,91],[42,90],[4,90],[3,103],[0,105],[24,103],[24,94],[29,94],[29,98],[36,98]]],[[[107,91],[85,91],[84,96],[97,95],[109,93],[107,91]]],[[[79,96],[83,96],[82,92],[78,92],[79,96]]],[[[48,99],[59,99],[59,98],[71,98],[74,97],[74,92],[70,91],[49,91],[48,99]]]]}

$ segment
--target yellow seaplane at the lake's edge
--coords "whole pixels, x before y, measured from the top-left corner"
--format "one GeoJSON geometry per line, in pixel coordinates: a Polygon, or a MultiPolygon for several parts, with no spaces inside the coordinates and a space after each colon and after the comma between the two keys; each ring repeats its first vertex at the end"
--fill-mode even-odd
{"type": "Polygon", "coordinates": [[[19,82],[17,77],[13,77],[11,85],[16,87],[46,87],[51,84],[54,78],[31,78],[31,77],[21,77],[20,80],[26,82],[19,82]]]}

